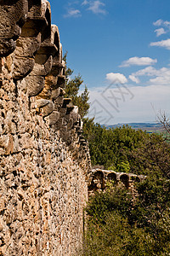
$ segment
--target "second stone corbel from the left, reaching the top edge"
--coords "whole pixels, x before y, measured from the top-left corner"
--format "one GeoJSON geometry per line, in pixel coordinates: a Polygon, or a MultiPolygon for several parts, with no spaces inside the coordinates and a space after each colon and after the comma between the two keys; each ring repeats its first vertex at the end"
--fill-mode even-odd
{"type": "Polygon", "coordinates": [[[51,26],[50,12],[49,3],[29,0],[26,23],[22,27],[14,51],[14,79],[23,79],[33,70],[35,53],[42,44],[42,34],[51,26]]]}

